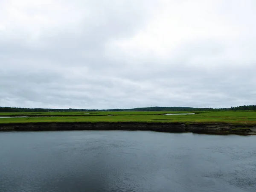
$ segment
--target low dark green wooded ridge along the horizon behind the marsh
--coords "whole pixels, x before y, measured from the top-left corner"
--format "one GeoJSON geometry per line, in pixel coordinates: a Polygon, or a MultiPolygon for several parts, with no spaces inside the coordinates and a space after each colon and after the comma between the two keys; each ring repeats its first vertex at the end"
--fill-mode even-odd
{"type": "Polygon", "coordinates": [[[256,105],[243,105],[231,108],[190,108],[190,107],[148,107],[133,109],[44,109],[0,107],[0,112],[49,112],[49,111],[256,111],[256,105]]]}

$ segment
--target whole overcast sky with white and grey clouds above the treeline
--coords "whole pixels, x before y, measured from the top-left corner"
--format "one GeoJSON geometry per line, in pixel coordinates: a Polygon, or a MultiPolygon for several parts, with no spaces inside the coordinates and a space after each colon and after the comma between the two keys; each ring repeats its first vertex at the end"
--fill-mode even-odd
{"type": "Polygon", "coordinates": [[[255,0],[0,0],[0,106],[256,105],[255,0]]]}

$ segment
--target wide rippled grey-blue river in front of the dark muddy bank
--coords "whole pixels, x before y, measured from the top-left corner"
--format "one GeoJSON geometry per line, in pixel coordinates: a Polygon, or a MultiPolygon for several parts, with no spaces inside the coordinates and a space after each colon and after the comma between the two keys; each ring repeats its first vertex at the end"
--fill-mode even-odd
{"type": "Polygon", "coordinates": [[[256,191],[256,137],[0,132],[0,192],[224,191],[256,191]]]}

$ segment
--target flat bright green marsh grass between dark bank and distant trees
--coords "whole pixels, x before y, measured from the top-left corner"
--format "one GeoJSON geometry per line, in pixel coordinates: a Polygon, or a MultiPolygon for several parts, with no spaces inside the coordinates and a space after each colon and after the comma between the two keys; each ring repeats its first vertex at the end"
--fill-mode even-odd
{"type": "Polygon", "coordinates": [[[1,123],[26,122],[227,122],[241,125],[256,125],[255,111],[195,111],[195,115],[168,115],[166,113],[192,113],[172,111],[135,112],[35,112],[0,113],[0,116],[29,116],[20,118],[0,118],[1,123]]]}

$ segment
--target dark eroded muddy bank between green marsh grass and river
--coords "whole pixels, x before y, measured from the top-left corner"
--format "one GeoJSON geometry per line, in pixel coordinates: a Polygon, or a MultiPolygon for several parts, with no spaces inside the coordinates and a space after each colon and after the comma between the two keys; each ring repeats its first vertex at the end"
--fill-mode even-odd
{"type": "Polygon", "coordinates": [[[70,131],[70,130],[131,130],[201,134],[256,134],[256,127],[241,127],[230,123],[175,122],[37,122],[0,124],[0,131],[70,131]]]}

